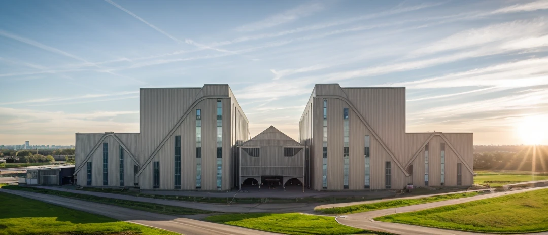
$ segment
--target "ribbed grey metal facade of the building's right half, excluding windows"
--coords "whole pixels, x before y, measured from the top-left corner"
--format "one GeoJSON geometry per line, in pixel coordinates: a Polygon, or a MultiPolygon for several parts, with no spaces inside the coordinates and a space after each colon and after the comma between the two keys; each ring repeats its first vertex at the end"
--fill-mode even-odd
{"type": "Polygon", "coordinates": [[[403,189],[408,183],[424,186],[426,140],[430,146],[430,186],[441,185],[440,146],[446,142],[444,185],[456,185],[456,163],[461,161],[455,151],[469,167],[463,164],[462,185],[473,183],[472,133],[406,133],[403,87],[341,88],[338,84],[317,84],[301,116],[299,132],[300,143],[310,146],[311,171],[306,178],[310,175],[312,189],[322,190],[324,99],[327,99],[327,190],[343,190],[345,108],[349,109],[350,122],[349,190],[364,190],[365,136],[370,137],[370,188],[366,190],[386,188],[387,161],[391,162],[391,189],[403,189]],[[410,164],[413,174],[408,172],[410,164]]]}

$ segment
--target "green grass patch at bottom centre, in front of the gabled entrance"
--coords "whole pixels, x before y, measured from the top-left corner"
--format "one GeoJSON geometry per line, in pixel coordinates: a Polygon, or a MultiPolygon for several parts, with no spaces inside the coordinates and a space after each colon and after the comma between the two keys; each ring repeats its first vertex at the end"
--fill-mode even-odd
{"type": "Polygon", "coordinates": [[[334,217],[300,213],[212,215],[206,221],[284,234],[387,234],[340,225],[334,217]]]}

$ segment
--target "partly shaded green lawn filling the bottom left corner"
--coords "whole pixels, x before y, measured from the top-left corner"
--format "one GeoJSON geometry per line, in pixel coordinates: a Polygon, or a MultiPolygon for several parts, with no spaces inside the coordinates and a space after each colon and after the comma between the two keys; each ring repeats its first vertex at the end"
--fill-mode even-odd
{"type": "Polygon", "coordinates": [[[10,195],[9,193],[0,192],[0,202],[2,202],[2,213],[0,213],[0,234],[2,235],[176,234],[10,195]]]}

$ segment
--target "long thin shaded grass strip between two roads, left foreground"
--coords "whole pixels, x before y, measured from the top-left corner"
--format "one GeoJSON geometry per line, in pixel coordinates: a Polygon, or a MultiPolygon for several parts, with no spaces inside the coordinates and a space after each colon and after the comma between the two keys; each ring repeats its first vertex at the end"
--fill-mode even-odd
{"type": "Polygon", "coordinates": [[[163,204],[156,204],[156,203],[149,203],[149,202],[136,202],[136,201],[107,198],[107,197],[97,197],[97,196],[82,195],[82,194],[72,193],[72,192],[38,189],[35,187],[2,186],[2,189],[19,190],[19,191],[43,193],[47,195],[70,197],[70,198],[75,198],[75,199],[80,199],[80,200],[85,200],[90,202],[118,205],[119,207],[126,207],[126,208],[131,208],[136,210],[144,210],[144,211],[150,211],[150,212],[161,213],[161,214],[169,214],[169,215],[195,215],[195,214],[214,213],[214,211],[208,211],[208,210],[175,207],[173,205],[163,205],[163,204]]]}

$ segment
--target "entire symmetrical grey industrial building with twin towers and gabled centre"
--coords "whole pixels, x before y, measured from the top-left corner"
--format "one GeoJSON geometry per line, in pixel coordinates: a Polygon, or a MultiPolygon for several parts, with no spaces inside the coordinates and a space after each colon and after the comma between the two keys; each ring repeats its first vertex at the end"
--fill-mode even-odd
{"type": "Polygon", "coordinates": [[[473,183],[472,133],[406,133],[404,87],[317,84],[299,141],[250,139],[229,85],[140,89],[139,133],[77,133],[75,182],[147,190],[242,184],[381,190],[473,183]]]}

